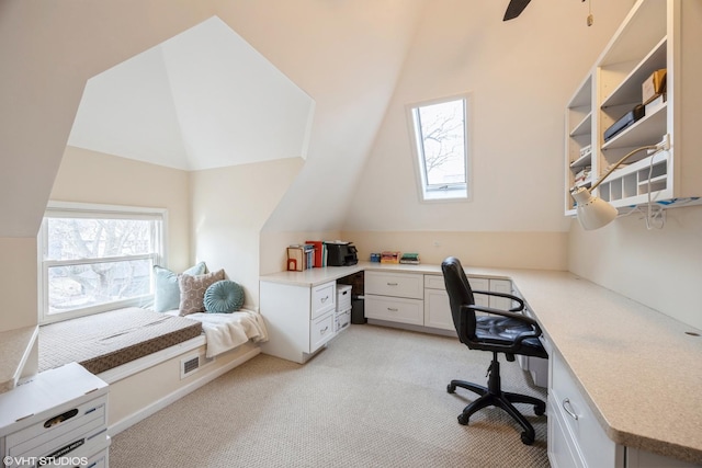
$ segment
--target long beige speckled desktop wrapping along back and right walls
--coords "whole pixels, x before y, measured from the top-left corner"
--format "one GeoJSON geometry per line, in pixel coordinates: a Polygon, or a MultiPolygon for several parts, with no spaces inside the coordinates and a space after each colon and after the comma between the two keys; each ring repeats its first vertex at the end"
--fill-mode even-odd
{"type": "MultiPolygon", "coordinates": [[[[315,286],[363,270],[441,274],[360,262],[261,281],[315,286]]],[[[612,441],[702,463],[702,331],[568,272],[465,271],[513,281],[612,441]]]]}

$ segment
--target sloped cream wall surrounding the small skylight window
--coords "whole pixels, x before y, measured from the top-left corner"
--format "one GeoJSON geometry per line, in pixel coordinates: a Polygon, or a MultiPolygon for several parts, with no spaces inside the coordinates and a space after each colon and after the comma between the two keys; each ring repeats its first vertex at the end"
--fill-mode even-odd
{"type": "Polygon", "coordinates": [[[432,259],[450,252],[435,249],[433,238],[463,232],[465,247],[458,241],[451,252],[466,252],[466,262],[475,258],[473,243],[484,246],[482,252],[507,249],[478,254],[479,264],[510,263],[509,255],[511,266],[565,269],[565,103],[630,7],[596,3],[588,27],[581,2],[532,2],[510,22],[501,21],[501,2],[432,2],[349,204],[344,232],[364,239],[405,232],[386,249],[416,242],[414,250],[432,259]],[[473,96],[472,201],[420,203],[406,105],[463,92],[473,96]]]}

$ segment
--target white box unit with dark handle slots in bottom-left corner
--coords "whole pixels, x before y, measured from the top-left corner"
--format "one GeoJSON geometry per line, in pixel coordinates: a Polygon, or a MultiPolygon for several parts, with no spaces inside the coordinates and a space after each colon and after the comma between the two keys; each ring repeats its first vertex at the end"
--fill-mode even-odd
{"type": "Polygon", "coordinates": [[[107,384],[79,364],[0,395],[0,454],[8,466],[106,467],[109,446],[107,384]]]}

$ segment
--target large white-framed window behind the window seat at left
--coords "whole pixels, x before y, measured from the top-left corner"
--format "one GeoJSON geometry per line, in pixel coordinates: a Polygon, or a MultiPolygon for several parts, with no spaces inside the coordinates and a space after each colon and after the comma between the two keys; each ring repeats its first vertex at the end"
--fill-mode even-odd
{"type": "Polygon", "coordinates": [[[38,235],[39,323],[150,304],[166,209],[50,203],[38,235]]]}

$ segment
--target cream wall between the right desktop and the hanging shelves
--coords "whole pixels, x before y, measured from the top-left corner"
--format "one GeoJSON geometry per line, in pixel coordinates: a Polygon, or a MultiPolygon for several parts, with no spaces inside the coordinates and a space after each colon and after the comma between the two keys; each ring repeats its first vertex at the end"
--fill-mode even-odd
{"type": "Polygon", "coordinates": [[[637,215],[595,231],[573,220],[568,270],[702,329],[702,206],[669,209],[666,218],[652,230],[637,215]]]}

